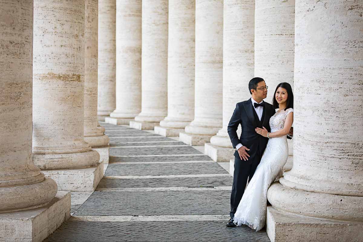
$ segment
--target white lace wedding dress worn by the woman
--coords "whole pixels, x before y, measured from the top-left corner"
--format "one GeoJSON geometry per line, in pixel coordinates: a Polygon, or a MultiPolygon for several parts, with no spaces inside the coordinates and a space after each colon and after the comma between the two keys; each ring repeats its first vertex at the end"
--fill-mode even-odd
{"type": "MultiPolygon", "coordinates": [[[[270,118],[271,132],[282,130],[287,114],[293,112],[288,108],[285,112],[276,113],[270,118]]],[[[266,222],[267,190],[271,183],[282,175],[289,149],[286,136],[270,138],[262,155],[260,164],[246,187],[243,197],[234,214],[237,226],[248,225],[256,231],[262,229],[266,222]]]]}

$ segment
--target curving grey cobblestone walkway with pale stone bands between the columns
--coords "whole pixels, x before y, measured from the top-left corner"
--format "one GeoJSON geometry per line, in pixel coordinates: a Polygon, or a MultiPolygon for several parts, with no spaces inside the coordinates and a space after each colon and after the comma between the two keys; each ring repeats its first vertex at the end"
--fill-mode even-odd
{"type": "Polygon", "coordinates": [[[111,147],[105,177],[45,242],[270,241],[265,230],[225,226],[232,177],[208,156],[175,139],[101,125],[111,147]]]}

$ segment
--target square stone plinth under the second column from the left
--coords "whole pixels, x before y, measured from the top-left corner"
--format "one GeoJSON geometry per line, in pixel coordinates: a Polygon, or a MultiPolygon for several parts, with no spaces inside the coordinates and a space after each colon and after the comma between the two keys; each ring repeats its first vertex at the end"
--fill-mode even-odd
{"type": "Polygon", "coordinates": [[[103,162],[90,168],[42,170],[42,172],[57,182],[60,191],[92,192],[103,177],[103,162]]]}

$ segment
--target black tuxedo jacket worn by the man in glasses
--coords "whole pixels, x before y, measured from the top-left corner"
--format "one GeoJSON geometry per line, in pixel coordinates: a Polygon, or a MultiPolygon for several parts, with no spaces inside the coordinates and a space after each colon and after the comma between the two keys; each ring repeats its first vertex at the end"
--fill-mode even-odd
{"type": "MultiPolygon", "coordinates": [[[[241,143],[250,150],[247,153],[250,155],[248,162],[260,162],[262,153],[264,152],[268,138],[256,133],[255,128],[265,127],[270,132],[270,118],[275,114],[274,107],[265,103],[264,111],[261,121],[258,119],[257,113],[254,110],[251,99],[236,104],[231,120],[228,124],[228,135],[231,139],[233,148],[241,143]],[[242,132],[240,139],[237,136],[238,125],[241,124],[242,132]],[[257,150],[259,149],[260,155],[256,157],[257,150]],[[258,160],[257,160],[258,159],[258,160]]],[[[234,156],[240,159],[237,150],[234,152],[234,156]]]]}

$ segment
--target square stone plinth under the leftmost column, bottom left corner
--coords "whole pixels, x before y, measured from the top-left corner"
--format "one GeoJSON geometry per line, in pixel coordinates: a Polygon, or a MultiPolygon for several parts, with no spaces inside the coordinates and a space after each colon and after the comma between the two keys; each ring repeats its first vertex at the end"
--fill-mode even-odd
{"type": "Polygon", "coordinates": [[[58,191],[48,205],[0,213],[0,241],[41,242],[70,217],[70,193],[58,191]]]}

